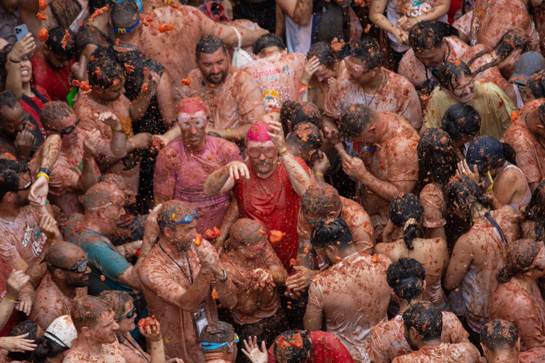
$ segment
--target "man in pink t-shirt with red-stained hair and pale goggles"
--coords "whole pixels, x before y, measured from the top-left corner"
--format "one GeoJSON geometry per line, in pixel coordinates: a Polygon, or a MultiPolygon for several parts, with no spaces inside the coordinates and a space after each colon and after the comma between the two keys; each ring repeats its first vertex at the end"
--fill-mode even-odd
{"type": "Polygon", "coordinates": [[[196,209],[199,214],[197,233],[203,235],[207,228],[221,227],[232,203],[228,191],[216,196],[205,195],[203,184],[206,177],[231,161],[242,161],[242,158],[232,142],[207,135],[208,108],[201,98],[183,98],[176,113],[182,135],[157,156],[154,202],[159,205],[168,200],[182,200],[191,209],[196,209]]]}

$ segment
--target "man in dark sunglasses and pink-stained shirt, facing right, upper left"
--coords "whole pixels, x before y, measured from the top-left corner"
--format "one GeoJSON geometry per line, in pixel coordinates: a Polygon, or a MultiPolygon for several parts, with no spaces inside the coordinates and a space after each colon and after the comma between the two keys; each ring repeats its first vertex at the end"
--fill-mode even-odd
{"type": "MultiPolygon", "coordinates": [[[[63,101],[46,103],[40,120],[47,135],[61,137],[61,151],[51,172],[48,197],[61,209],[61,225],[64,226],[73,213],[83,213],[79,198],[100,175],[94,155],[101,135],[97,130],[82,132],[78,127],[80,120],[63,101]]],[[[110,142],[110,149],[114,147],[110,142]]]]}

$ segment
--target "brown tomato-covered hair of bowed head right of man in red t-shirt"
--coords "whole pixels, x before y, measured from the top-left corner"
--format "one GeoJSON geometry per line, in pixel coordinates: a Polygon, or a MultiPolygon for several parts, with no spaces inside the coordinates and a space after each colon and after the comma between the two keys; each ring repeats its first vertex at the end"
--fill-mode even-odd
{"type": "Polygon", "coordinates": [[[340,195],[333,186],[311,185],[301,197],[300,206],[303,213],[326,218],[330,212],[340,208],[340,195]]]}

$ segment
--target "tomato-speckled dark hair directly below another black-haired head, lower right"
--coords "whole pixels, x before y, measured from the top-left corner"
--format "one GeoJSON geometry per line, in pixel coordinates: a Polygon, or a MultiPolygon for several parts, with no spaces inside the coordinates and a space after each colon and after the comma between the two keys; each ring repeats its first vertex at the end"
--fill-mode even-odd
{"type": "Polygon", "coordinates": [[[443,314],[433,302],[415,302],[403,313],[403,323],[407,330],[414,327],[423,341],[441,338],[443,314]]]}

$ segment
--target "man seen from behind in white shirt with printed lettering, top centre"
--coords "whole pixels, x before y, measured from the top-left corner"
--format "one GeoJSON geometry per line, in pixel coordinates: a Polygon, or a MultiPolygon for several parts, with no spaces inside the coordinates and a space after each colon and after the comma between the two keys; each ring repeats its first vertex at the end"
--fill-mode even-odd
{"type": "Polygon", "coordinates": [[[275,90],[279,95],[279,104],[269,105],[269,110],[273,107],[279,108],[285,101],[296,101],[305,56],[286,53],[284,40],[275,34],[260,36],[254,43],[253,52],[257,59],[242,69],[254,76],[261,94],[265,94],[267,90],[275,90]]]}

